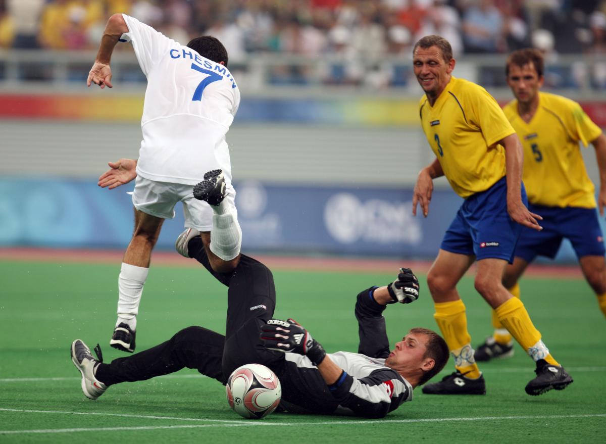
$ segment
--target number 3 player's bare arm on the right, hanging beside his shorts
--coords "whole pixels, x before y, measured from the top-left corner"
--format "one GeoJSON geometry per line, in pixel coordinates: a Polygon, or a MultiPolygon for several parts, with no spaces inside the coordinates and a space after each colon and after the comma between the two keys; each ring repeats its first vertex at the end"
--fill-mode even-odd
{"type": "Polygon", "coordinates": [[[526,227],[542,230],[538,214],[531,213],[522,202],[522,163],[524,151],[516,133],[508,135],[498,143],[505,147],[505,169],[507,170],[507,212],[511,219],[526,227]]]}

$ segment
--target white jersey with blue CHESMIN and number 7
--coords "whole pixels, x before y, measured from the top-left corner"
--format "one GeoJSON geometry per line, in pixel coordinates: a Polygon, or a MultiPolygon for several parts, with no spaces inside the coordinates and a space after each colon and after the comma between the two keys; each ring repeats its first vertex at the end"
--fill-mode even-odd
{"type": "Polygon", "coordinates": [[[195,185],[212,169],[231,183],[225,142],[240,92],[225,66],[122,14],[141,70],[147,76],[137,174],[195,185]]]}

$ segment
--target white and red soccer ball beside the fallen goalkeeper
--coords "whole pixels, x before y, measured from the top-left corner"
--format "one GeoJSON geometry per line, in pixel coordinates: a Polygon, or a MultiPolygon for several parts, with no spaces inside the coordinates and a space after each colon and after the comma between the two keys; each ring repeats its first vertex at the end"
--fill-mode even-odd
{"type": "Polygon", "coordinates": [[[261,419],[273,412],[282,396],[278,377],[261,364],[246,364],[235,369],[225,388],[231,409],[250,419],[261,419]]]}

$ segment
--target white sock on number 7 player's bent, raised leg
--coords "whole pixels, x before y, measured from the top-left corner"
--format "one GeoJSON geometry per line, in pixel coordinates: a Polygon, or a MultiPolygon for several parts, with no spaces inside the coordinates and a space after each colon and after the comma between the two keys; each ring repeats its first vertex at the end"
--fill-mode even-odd
{"type": "Polygon", "coordinates": [[[230,261],[240,254],[242,246],[242,229],[236,218],[236,212],[231,211],[227,201],[219,206],[211,206],[213,228],[210,232],[210,251],[224,261],[230,261]]]}

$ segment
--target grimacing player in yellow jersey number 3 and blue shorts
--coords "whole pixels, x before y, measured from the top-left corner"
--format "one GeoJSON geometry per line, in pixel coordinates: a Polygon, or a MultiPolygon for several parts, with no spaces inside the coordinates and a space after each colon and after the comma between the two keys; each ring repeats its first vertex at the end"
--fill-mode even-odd
{"type": "Polygon", "coordinates": [[[525,390],[540,395],[564,389],[572,378],[551,356],[524,304],[501,283],[522,226],[541,230],[541,217],[528,211],[522,185],[522,146],[498,103],[484,88],[451,73],[450,43],[426,36],[413,48],[413,67],[425,95],[421,124],[436,160],[419,172],[413,195],[427,216],[433,179],[445,175],[465,199],[448,228],[427,275],[435,318],[454,357],[455,371],[424,387],[427,394],[485,394],[474,360],[465,305],[456,284],[477,261],[475,288],[501,323],[536,362],[536,377],[525,390]]]}

